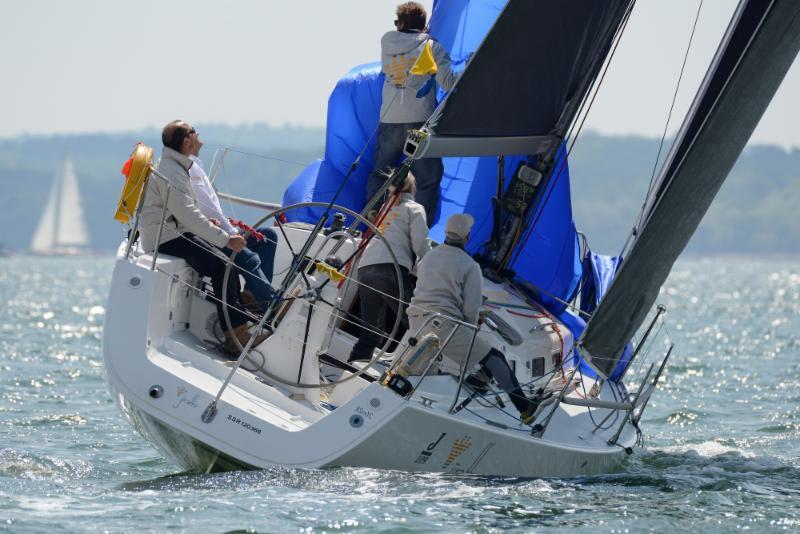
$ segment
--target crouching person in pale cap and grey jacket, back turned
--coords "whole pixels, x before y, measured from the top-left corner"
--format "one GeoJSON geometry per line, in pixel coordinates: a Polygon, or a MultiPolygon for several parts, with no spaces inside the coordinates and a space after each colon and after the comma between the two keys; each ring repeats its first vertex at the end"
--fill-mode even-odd
{"type": "MultiPolygon", "coordinates": [[[[456,324],[446,318],[453,318],[471,325],[480,326],[482,304],[482,280],[480,266],[464,250],[469,241],[473,218],[469,214],[451,215],[445,225],[443,245],[428,252],[417,267],[417,287],[408,308],[409,333],[421,336],[433,331],[444,343],[456,324]],[[445,316],[440,318],[441,326],[436,327],[427,320],[431,312],[445,316]],[[422,331],[420,328],[423,327],[422,331]],[[419,334],[418,334],[419,332],[419,334]]],[[[472,329],[461,326],[442,351],[441,372],[459,375],[467,359],[472,341],[472,329]]],[[[469,358],[469,366],[479,367],[466,383],[477,390],[487,388],[486,382],[494,379],[508,393],[514,406],[519,410],[524,423],[530,423],[538,407],[538,401],[528,399],[499,350],[487,345],[476,336],[469,358]]]]}

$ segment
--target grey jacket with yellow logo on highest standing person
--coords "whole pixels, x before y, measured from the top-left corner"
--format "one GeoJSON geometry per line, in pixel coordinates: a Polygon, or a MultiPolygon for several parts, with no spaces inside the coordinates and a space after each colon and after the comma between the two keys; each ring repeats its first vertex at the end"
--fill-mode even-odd
{"type": "Polygon", "coordinates": [[[386,75],[381,94],[381,122],[423,122],[436,107],[436,91],[430,90],[422,98],[417,91],[428,81],[429,75],[409,74],[425,48],[431,41],[431,50],[436,61],[436,83],[450,91],[458,76],[450,66],[450,56],[442,45],[422,32],[387,32],[381,38],[381,71],[386,75]]]}

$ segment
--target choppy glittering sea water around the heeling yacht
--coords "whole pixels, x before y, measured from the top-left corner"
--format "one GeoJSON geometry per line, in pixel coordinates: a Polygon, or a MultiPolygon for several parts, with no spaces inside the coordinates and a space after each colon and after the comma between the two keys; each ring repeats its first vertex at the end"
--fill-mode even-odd
{"type": "Polygon", "coordinates": [[[620,472],[522,480],[375,469],[189,474],[104,382],[113,259],[0,259],[0,531],[800,529],[800,262],[678,262],[676,348],[620,472]]]}

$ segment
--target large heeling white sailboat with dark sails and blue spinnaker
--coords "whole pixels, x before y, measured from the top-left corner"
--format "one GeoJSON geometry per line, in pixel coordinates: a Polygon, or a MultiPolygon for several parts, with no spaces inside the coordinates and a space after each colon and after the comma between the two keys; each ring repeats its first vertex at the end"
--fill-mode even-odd
{"type": "MultiPolygon", "coordinates": [[[[397,322],[368,364],[346,363],[360,246],[382,239],[363,215],[375,200],[361,192],[369,165],[353,164],[370,152],[358,147],[369,146],[377,122],[375,66],[340,82],[325,159],[254,225],[274,224],[280,241],[273,283],[281,298],[253,316],[256,330],[273,331],[261,345],[246,343],[231,365],[215,341],[227,319],[212,299],[225,296],[211,295],[181,259],[120,245],[103,354],[123,414],[166,457],[202,472],[356,466],[569,477],[617,469],[641,444],[642,414],[672,351],[648,354],[664,318],[663,307],[652,311],[658,290],[800,49],[799,3],[740,2],[631,245],[604,258],[572,220],[566,142],[633,4],[436,2],[431,32],[466,68],[409,136],[408,160],[384,186],[416,159],[445,158],[431,236],[441,238],[451,213],[474,216],[467,248],[482,266],[488,317],[456,328],[482,336],[526,391],[547,399],[532,421],[509,412],[506,392],[471,388],[467,365],[432,372],[449,339],[407,332],[394,340],[397,322]]],[[[164,179],[150,157],[137,147],[126,191],[164,179]]],[[[230,266],[227,276],[236,276],[230,266]]]]}

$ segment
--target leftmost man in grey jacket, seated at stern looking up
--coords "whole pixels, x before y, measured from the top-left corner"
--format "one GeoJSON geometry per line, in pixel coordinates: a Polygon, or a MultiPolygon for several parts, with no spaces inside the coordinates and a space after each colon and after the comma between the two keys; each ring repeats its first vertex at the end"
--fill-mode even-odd
{"type": "MultiPolygon", "coordinates": [[[[189,179],[189,169],[194,163],[189,157],[199,139],[197,132],[185,121],[172,121],[161,131],[164,150],[158,162],[159,176],[151,176],[147,183],[145,201],[142,206],[140,234],[145,252],[177,256],[186,260],[202,276],[211,278],[217,300],[217,314],[222,320],[220,302],[223,295],[225,260],[221,248],[239,252],[246,246],[244,237],[231,235],[208,220],[197,208],[189,179]],[[166,206],[166,208],[165,208],[166,206]],[[164,226],[159,236],[162,213],[164,226]]],[[[241,311],[239,300],[239,277],[229,276],[227,285],[228,313],[231,330],[225,331],[225,350],[238,355],[236,340],[247,343],[247,316],[241,311]]],[[[223,324],[224,326],[224,324],[223,324]]],[[[266,339],[261,335],[254,341],[257,345],[266,339]]]]}

